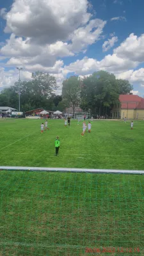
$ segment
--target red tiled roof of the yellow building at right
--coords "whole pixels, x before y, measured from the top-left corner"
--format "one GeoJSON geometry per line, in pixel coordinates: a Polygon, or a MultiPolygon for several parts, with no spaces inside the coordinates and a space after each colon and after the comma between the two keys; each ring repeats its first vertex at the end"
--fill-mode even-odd
{"type": "Polygon", "coordinates": [[[122,109],[144,109],[144,99],[138,95],[120,95],[119,100],[122,109]]]}

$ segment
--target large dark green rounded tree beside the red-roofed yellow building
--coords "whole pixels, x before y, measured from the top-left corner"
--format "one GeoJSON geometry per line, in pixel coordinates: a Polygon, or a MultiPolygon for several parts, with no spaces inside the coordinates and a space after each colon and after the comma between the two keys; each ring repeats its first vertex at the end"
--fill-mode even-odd
{"type": "Polygon", "coordinates": [[[120,94],[130,93],[132,86],[128,81],[116,79],[114,74],[100,70],[84,77],[81,88],[81,108],[91,109],[92,113],[110,115],[113,105],[118,103],[120,94]]]}

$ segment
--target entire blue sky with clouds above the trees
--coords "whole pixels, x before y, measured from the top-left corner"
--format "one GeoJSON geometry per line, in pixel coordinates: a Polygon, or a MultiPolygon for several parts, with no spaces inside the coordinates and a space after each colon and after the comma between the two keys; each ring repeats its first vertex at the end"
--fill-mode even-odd
{"type": "Polygon", "coordinates": [[[68,76],[107,70],[144,94],[142,0],[1,2],[0,90],[40,70],[68,76]],[[49,2],[49,3],[48,3],[49,2]]]}

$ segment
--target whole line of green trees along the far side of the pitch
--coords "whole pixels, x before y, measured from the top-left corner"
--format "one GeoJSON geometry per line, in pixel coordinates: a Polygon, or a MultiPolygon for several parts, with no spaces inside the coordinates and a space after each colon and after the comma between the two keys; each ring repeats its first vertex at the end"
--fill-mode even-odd
{"type": "Polygon", "coordinates": [[[100,70],[91,76],[71,76],[62,84],[61,95],[54,92],[58,88],[56,78],[48,73],[35,72],[30,81],[17,81],[0,93],[0,106],[18,109],[20,86],[20,110],[29,111],[44,108],[49,111],[65,111],[76,107],[90,110],[92,115],[110,115],[113,105],[118,104],[120,94],[131,93],[132,85],[124,79],[116,79],[114,74],[100,70]]]}

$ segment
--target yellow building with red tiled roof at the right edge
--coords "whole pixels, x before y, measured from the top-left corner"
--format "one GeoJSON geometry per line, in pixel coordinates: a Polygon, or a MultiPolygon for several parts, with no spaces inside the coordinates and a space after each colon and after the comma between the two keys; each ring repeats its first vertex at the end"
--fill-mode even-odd
{"type": "Polygon", "coordinates": [[[144,99],[138,95],[120,95],[119,103],[112,109],[113,118],[143,119],[144,99]]]}

